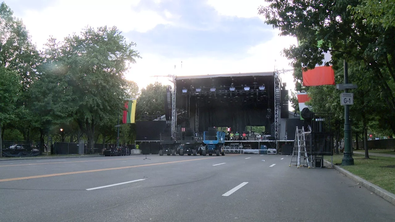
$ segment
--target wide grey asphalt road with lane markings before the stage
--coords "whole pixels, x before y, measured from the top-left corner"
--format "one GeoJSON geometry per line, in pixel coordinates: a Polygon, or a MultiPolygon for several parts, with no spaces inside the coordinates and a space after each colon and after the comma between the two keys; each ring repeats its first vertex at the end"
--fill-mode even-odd
{"type": "Polygon", "coordinates": [[[144,157],[0,162],[0,222],[395,220],[384,199],[291,156],[144,157]]]}

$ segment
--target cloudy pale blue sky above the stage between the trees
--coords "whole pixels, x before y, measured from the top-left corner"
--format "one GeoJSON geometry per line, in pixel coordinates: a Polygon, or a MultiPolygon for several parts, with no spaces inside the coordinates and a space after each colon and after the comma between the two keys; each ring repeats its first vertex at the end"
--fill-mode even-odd
{"type": "MultiPolygon", "coordinates": [[[[5,0],[38,49],[84,27],[117,26],[142,58],[125,73],[139,88],[167,75],[292,69],[282,49],[296,39],[264,24],[264,0],[5,0]],[[182,65],[181,65],[182,64],[182,65]]],[[[293,90],[292,72],[281,75],[293,90]]]]}

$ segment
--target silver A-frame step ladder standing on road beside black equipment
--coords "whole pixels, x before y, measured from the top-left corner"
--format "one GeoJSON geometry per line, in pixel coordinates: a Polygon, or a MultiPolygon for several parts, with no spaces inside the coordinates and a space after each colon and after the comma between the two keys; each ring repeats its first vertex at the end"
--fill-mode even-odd
{"type": "Polygon", "coordinates": [[[296,127],[295,143],[293,147],[290,166],[292,163],[296,163],[297,168],[299,168],[300,166],[308,166],[308,168],[311,168],[310,162],[308,161],[308,157],[307,157],[306,140],[305,140],[305,134],[309,134],[309,133],[310,132],[305,132],[304,127],[302,127],[301,130],[299,130],[298,127],[296,127]],[[294,160],[294,158],[297,158],[297,160],[294,160]]]}

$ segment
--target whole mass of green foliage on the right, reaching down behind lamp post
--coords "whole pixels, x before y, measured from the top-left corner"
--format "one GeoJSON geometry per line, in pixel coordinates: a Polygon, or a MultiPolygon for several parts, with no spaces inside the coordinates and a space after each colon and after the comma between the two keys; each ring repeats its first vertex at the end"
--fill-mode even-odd
{"type": "MultiPolygon", "coordinates": [[[[344,120],[339,93],[333,86],[301,85],[301,70],[316,65],[333,65],[336,83],[342,83],[343,60],[349,66],[355,103],[350,107],[354,130],[381,128],[395,134],[389,113],[395,112],[395,3],[385,0],[266,0],[268,6],[258,9],[265,23],[280,30],[282,36],[293,36],[298,45],[284,49],[292,59],[297,91],[307,91],[310,105],[318,111],[334,114],[344,120]],[[331,61],[322,62],[324,53],[331,61]],[[361,123],[361,124],[359,124],[361,123]],[[361,126],[362,125],[362,126],[361,126]]],[[[293,95],[294,96],[294,95],[293,95]]],[[[295,97],[293,102],[297,102],[295,97]]],[[[297,105],[293,105],[297,108],[297,105]]]]}

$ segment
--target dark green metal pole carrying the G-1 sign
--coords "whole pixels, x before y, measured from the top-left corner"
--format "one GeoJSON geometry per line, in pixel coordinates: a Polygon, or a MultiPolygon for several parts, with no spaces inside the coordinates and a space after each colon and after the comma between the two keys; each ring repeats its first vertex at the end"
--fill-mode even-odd
{"type": "MultiPolygon", "coordinates": [[[[344,59],[344,85],[348,84],[348,64],[344,59]]],[[[344,93],[348,93],[348,88],[344,88],[344,93]]],[[[350,105],[344,105],[344,153],[342,166],[354,165],[352,158],[351,126],[350,126],[350,105]]]]}

